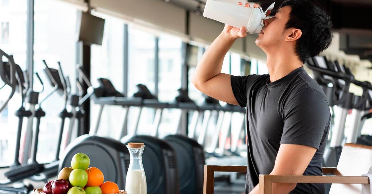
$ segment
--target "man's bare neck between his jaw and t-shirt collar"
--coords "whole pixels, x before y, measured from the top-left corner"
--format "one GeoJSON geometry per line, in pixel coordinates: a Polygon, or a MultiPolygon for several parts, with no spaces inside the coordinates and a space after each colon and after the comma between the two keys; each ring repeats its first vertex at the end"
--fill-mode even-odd
{"type": "Polygon", "coordinates": [[[302,62],[293,53],[276,52],[267,54],[266,66],[269,70],[270,83],[288,75],[293,70],[302,67],[302,62]]]}

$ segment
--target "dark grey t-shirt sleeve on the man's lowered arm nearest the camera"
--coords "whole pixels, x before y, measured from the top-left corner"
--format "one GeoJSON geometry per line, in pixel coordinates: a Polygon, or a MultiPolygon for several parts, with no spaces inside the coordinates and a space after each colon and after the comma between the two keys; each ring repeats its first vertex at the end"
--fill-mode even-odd
{"type": "Polygon", "coordinates": [[[327,136],[330,110],[319,91],[306,88],[292,96],[283,109],[284,127],[280,144],[297,144],[319,149],[327,136]]]}

